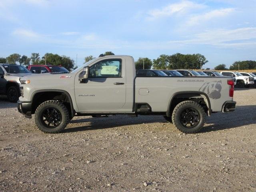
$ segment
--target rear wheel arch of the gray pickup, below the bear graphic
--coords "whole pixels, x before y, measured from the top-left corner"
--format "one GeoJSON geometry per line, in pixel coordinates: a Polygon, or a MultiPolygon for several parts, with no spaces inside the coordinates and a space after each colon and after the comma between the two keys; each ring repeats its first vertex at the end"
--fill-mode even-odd
{"type": "Polygon", "coordinates": [[[171,109],[173,108],[175,98],[196,98],[197,96],[198,98],[204,99],[204,102],[206,103],[206,106],[208,108],[208,116],[210,116],[212,114],[210,98],[205,92],[201,92],[201,91],[180,91],[173,94],[168,104],[166,116],[168,117],[171,116],[171,109]]]}

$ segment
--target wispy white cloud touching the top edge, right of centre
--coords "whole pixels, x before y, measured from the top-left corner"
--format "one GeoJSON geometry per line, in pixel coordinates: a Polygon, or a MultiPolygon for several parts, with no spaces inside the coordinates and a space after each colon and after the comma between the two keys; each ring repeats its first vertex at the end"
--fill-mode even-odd
{"type": "Polygon", "coordinates": [[[160,17],[168,17],[175,13],[186,12],[187,10],[194,10],[204,7],[205,6],[203,4],[197,4],[184,0],[179,3],[169,4],[162,9],[150,10],[148,15],[150,19],[156,19],[160,17]]]}

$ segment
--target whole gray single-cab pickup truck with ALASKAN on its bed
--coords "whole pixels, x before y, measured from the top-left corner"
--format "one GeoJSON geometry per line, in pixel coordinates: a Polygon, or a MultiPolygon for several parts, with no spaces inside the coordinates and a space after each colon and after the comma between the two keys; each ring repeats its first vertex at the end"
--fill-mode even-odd
{"type": "Polygon", "coordinates": [[[68,74],[22,79],[18,110],[38,128],[61,132],[74,116],[162,115],[184,133],[215,112],[235,110],[230,77],[136,77],[131,56],[104,56],[68,74]]]}

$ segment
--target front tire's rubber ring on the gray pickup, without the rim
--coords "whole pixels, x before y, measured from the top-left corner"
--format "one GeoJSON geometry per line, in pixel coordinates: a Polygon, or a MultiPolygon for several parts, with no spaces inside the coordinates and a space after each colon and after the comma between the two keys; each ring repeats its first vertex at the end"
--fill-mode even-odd
{"type": "Polygon", "coordinates": [[[70,121],[70,118],[69,118],[68,109],[62,102],[59,102],[57,100],[48,100],[46,102],[43,102],[42,104],[40,104],[38,106],[38,108],[36,109],[36,112],[35,112],[36,126],[38,127],[39,130],[41,130],[42,132],[45,132],[45,133],[62,132],[62,130],[64,130],[64,128],[69,123],[69,121],[70,121]],[[46,126],[44,126],[44,124],[41,121],[42,113],[44,112],[45,109],[47,109],[49,107],[56,108],[62,116],[60,124],[55,128],[47,128],[46,126]]]}

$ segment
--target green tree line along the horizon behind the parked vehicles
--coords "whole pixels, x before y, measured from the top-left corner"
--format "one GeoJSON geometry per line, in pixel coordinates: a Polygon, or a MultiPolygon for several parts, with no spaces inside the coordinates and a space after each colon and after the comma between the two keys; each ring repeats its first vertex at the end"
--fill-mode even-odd
{"type": "MultiPolygon", "coordinates": [[[[106,51],[101,56],[114,55],[111,51],[106,51]]],[[[84,63],[94,59],[92,55],[84,58],[84,63]]],[[[206,64],[208,60],[202,54],[181,54],[176,53],[172,55],[162,54],[156,59],[138,58],[135,62],[136,69],[200,69],[206,64]]],[[[47,64],[47,65],[62,65],[68,70],[74,70],[76,68],[75,62],[68,56],[58,55],[52,53],[46,53],[40,58],[39,53],[32,53],[30,57],[14,53],[10,56],[3,58],[0,57],[0,63],[8,64],[20,64],[28,67],[28,65],[35,64],[47,64]]],[[[209,68],[208,68],[209,69],[209,68]]],[[[228,70],[225,64],[220,64],[214,68],[215,70],[228,70]]],[[[230,70],[246,70],[256,69],[256,61],[236,61],[230,68],[230,70]]]]}

